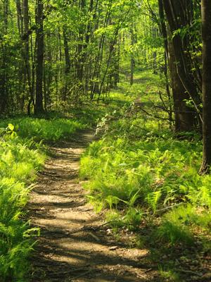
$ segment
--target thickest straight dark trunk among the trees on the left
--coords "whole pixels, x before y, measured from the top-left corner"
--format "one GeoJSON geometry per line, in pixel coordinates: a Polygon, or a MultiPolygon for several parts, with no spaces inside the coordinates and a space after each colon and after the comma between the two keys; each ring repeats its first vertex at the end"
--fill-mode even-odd
{"type": "Polygon", "coordinates": [[[43,9],[42,0],[37,0],[36,7],[36,39],[37,39],[37,58],[36,58],[36,97],[34,114],[44,113],[43,107],[43,63],[44,63],[44,32],[43,32],[43,9]]]}

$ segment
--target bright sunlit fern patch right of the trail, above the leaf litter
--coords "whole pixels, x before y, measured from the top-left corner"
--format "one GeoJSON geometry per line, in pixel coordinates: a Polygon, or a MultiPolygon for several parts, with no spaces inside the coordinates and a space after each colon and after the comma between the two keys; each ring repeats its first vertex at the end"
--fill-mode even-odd
{"type": "Polygon", "coordinates": [[[102,201],[109,195],[129,201],[139,191],[143,204],[154,210],[158,202],[168,204],[181,198],[209,204],[210,189],[203,188],[206,180],[197,174],[199,151],[197,143],[185,140],[129,142],[107,138],[87,149],[80,175],[91,179],[87,188],[102,201]],[[195,168],[191,166],[194,162],[195,168]]]}

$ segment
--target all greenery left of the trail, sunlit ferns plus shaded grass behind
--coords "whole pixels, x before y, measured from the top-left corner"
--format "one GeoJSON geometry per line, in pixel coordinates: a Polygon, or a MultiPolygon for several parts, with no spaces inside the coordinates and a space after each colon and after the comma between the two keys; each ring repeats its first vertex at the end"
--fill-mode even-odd
{"type": "Polygon", "coordinates": [[[88,121],[94,109],[75,111],[79,118],[49,114],[47,118],[11,118],[0,126],[0,277],[1,281],[26,281],[27,257],[32,250],[37,228],[25,223],[23,207],[37,171],[44,164],[42,142],[70,137],[75,130],[95,123],[101,111],[88,121]]]}

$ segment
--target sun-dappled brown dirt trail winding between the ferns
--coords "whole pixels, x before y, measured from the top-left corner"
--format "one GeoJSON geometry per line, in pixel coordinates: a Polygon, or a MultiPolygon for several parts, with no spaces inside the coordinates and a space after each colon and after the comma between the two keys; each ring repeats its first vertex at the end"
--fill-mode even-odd
{"type": "Polygon", "coordinates": [[[32,282],[152,281],[153,270],[143,264],[147,251],[117,243],[87,203],[79,158],[92,140],[93,131],[82,131],[51,147],[28,206],[32,224],[41,228],[32,282]]]}

